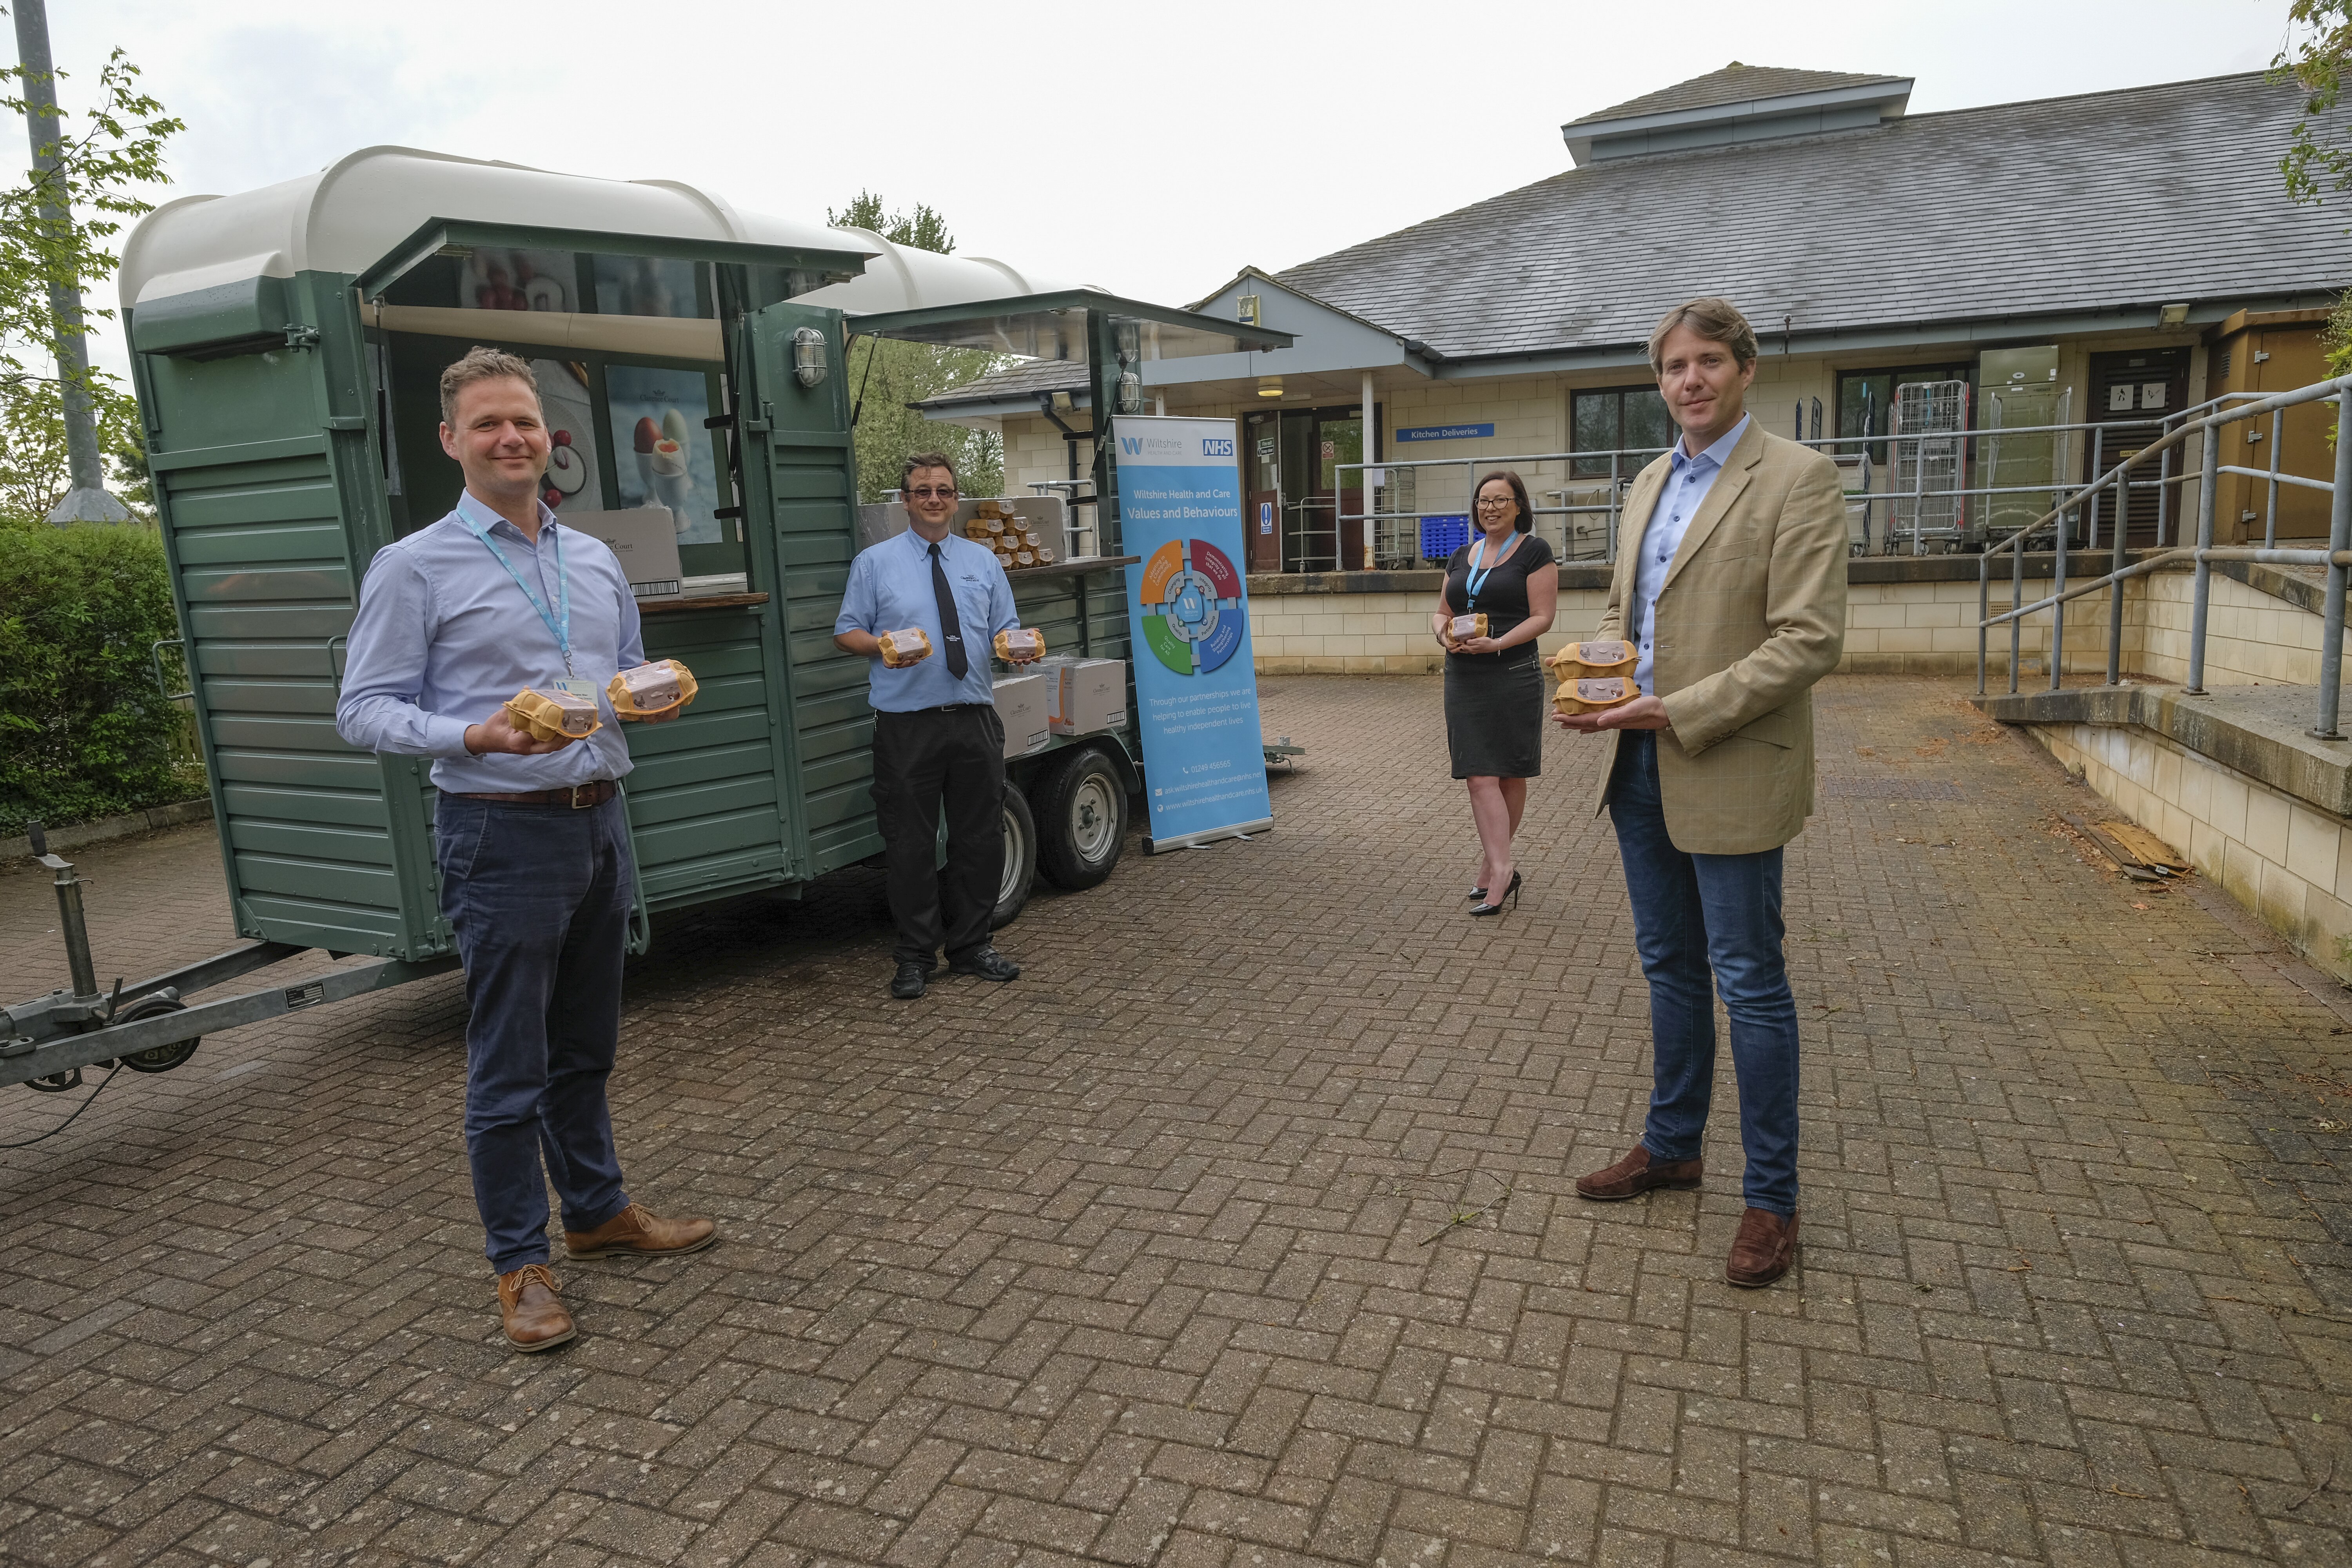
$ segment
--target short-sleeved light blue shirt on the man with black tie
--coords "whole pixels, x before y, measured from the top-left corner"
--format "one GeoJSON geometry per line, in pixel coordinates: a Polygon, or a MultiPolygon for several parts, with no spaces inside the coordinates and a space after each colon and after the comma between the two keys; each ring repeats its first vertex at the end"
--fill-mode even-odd
{"type": "Polygon", "coordinates": [[[880,712],[997,701],[988,661],[995,654],[990,646],[995,635],[1021,625],[1014,585],[1004,581],[1004,564],[995,550],[957,534],[938,541],[938,564],[948,571],[948,590],[955,595],[955,621],[964,628],[964,679],[948,675],[948,644],[938,632],[938,590],[931,588],[931,541],[908,529],[870,550],[858,550],[858,559],[849,562],[842,614],[833,621],[835,637],[842,632],[880,637],[920,625],[931,639],[931,656],[906,670],[891,670],[880,654],[866,661],[868,701],[880,712]]]}

